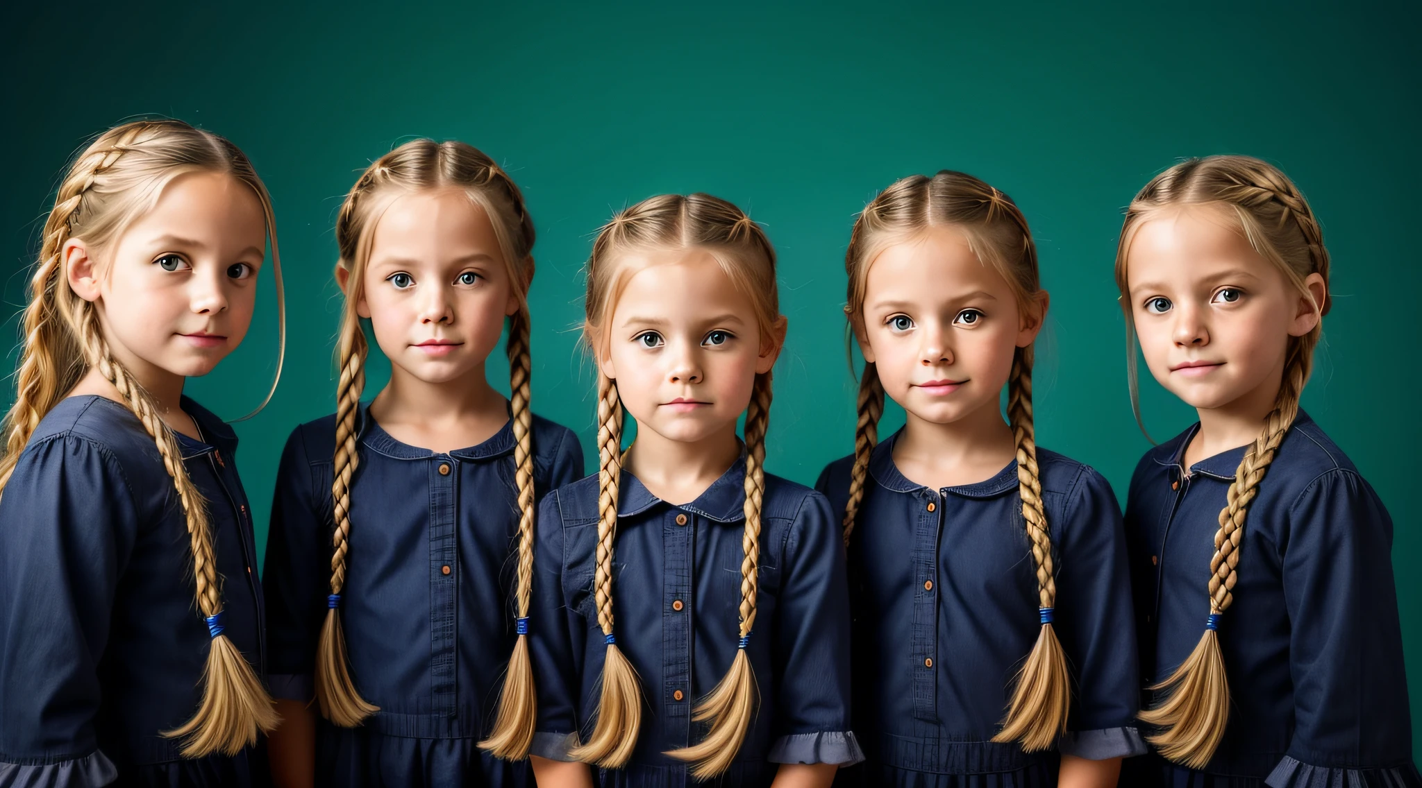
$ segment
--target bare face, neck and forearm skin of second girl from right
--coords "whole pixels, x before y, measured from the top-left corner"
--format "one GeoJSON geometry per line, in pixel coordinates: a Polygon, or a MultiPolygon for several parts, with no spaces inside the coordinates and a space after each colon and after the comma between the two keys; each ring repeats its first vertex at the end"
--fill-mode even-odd
{"type": "MultiPolygon", "coordinates": [[[[957,487],[997,476],[1015,456],[1000,396],[1017,348],[1037,339],[1049,298],[1020,304],[953,226],[930,227],[870,263],[853,319],[884,395],[904,409],[893,460],[914,484],[957,487]]],[[[1111,788],[1121,758],[1062,755],[1058,785],[1111,788]]]]}

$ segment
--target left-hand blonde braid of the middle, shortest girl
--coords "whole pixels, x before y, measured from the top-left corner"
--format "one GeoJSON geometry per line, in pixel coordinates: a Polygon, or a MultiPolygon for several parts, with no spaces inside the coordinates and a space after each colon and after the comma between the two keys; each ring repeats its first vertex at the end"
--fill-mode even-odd
{"type": "Polygon", "coordinates": [[[597,623],[607,640],[597,723],[586,744],[569,755],[602,768],[620,768],[637,747],[641,730],[641,687],[631,662],[613,636],[613,547],[617,537],[617,487],[621,481],[623,409],[616,381],[597,373],[597,623]]]}

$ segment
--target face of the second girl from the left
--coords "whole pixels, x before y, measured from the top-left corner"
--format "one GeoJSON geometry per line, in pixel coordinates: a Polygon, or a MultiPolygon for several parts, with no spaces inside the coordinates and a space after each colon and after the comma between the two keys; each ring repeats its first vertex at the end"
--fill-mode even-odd
{"type": "Polygon", "coordinates": [[[392,365],[444,383],[482,373],[519,308],[513,284],[482,207],[456,189],[417,192],[375,226],[356,312],[392,365]]]}

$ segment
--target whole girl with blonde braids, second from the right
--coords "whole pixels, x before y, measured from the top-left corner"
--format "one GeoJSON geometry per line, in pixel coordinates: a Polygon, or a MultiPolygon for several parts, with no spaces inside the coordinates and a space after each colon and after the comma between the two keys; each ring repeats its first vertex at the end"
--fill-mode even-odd
{"type": "Polygon", "coordinates": [[[845,781],[1057,785],[1059,761],[1061,785],[1115,785],[1145,750],[1121,511],[1034,440],[1048,298],[1027,220],[973,176],[906,177],[859,216],[845,268],[859,425],[818,484],[845,524],[872,734],[845,781]],[[907,420],[875,446],[886,393],[907,420]]]}

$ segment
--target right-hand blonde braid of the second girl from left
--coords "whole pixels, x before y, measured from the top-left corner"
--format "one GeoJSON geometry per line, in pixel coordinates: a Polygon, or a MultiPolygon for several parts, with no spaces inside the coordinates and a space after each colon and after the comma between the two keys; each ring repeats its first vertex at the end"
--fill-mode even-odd
{"type": "Polygon", "coordinates": [[[528,757],[538,721],[538,697],[533,686],[533,663],[529,660],[528,616],[533,592],[533,410],[529,407],[528,307],[519,307],[509,318],[509,392],[513,410],[513,466],[519,494],[519,558],[515,605],[518,612],[518,640],[509,657],[508,676],[499,694],[499,711],[489,738],[479,747],[495,757],[518,761],[528,757]]]}

